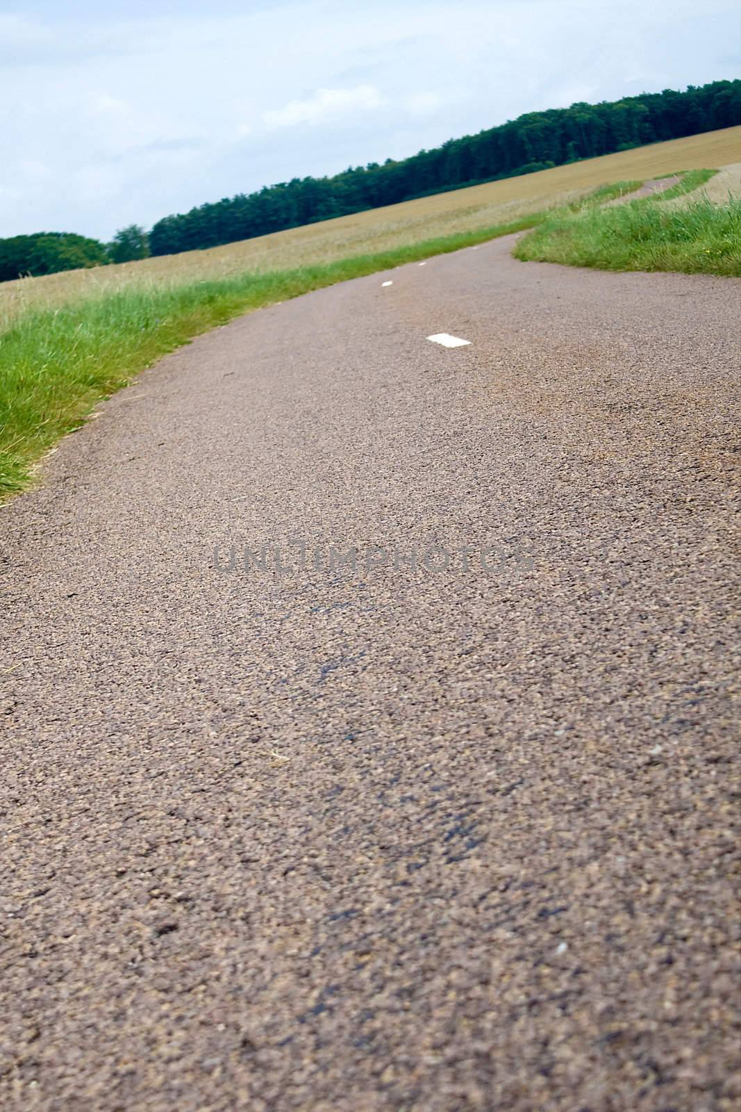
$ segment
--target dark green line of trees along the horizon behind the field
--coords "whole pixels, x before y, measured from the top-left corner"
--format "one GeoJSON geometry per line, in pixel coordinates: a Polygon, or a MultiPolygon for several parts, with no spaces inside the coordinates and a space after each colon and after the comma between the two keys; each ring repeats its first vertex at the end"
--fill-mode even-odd
{"type": "Polygon", "coordinates": [[[599,105],[525,112],[410,158],[293,178],[166,216],[149,234],[130,225],[111,244],[66,232],[0,240],[0,281],[126,262],[251,239],[428,193],[531,173],[583,158],[741,123],[741,80],[664,89],[599,105]]]}

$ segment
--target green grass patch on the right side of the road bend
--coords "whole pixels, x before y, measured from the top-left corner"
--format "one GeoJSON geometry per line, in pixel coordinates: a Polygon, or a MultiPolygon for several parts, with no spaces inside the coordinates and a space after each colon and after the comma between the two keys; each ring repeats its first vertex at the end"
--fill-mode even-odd
{"type": "Polygon", "coordinates": [[[601,270],[679,270],[741,276],[741,197],[705,198],[683,208],[664,202],[697,189],[712,171],[693,170],[665,192],[614,208],[582,206],[552,214],[517,245],[523,260],[601,270]]]}

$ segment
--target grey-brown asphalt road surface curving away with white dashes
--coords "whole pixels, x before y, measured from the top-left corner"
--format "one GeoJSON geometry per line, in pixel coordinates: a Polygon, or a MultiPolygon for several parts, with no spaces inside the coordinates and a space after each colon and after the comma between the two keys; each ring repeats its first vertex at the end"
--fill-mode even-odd
{"type": "Polygon", "coordinates": [[[741,284],[510,247],[0,513],[3,1109],[737,1112],[741,284]]]}

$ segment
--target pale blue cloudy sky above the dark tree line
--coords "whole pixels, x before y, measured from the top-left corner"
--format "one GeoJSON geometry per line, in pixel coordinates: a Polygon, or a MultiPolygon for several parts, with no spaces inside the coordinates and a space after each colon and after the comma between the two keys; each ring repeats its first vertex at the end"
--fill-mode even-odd
{"type": "Polygon", "coordinates": [[[0,236],[136,222],[522,112],[741,76],[741,0],[0,0],[0,236]]]}

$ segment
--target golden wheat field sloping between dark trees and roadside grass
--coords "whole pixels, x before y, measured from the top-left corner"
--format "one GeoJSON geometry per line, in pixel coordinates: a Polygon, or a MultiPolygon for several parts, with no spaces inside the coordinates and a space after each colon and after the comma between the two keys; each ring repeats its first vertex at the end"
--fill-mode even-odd
{"type": "Polygon", "coordinates": [[[741,127],[725,128],[519,178],[435,193],[210,250],[21,278],[0,285],[0,327],[24,308],[58,306],[131,284],[177,285],[244,271],[331,262],[351,255],[507,224],[583,196],[598,186],[653,178],[674,170],[725,167],[723,176],[713,179],[714,185],[711,182],[712,188],[704,187],[711,199],[724,200],[729,188],[738,189],[740,158],[741,127]]]}

